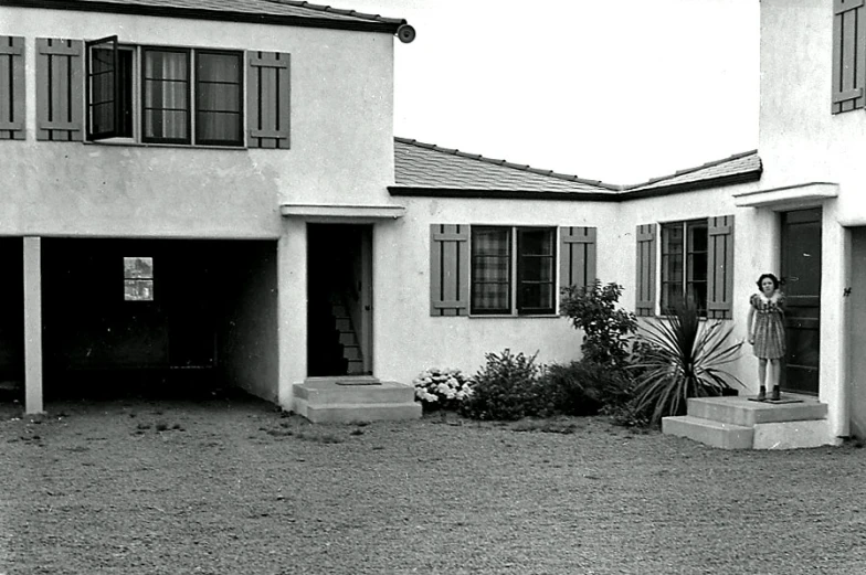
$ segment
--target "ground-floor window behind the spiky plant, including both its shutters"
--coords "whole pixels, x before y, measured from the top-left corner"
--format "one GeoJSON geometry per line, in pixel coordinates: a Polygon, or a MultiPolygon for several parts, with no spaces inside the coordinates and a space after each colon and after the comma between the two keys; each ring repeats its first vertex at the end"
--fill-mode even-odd
{"type": "Polygon", "coordinates": [[[693,298],[701,317],[730,319],[733,290],[733,216],[637,226],[636,313],[655,315],[656,228],[659,232],[659,301],[669,313],[693,298]]]}

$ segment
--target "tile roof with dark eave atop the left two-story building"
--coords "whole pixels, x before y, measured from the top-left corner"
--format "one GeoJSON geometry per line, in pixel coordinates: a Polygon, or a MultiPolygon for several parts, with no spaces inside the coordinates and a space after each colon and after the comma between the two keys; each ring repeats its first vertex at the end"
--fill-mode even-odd
{"type": "Polygon", "coordinates": [[[11,6],[57,8],[64,10],[117,11],[131,13],[165,13],[165,15],[193,17],[194,14],[230,19],[245,17],[261,20],[308,21],[310,24],[330,22],[336,25],[360,29],[373,26],[397,28],[405,20],[367,14],[355,10],[340,10],[300,0],[4,0],[11,6]]]}

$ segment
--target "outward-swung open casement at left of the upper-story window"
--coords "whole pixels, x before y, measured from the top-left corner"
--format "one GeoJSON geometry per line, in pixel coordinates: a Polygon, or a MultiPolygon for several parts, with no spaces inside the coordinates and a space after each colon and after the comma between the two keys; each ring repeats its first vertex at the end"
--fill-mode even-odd
{"type": "Polygon", "coordinates": [[[133,52],[117,36],[85,42],[87,139],[133,137],[133,52]]]}

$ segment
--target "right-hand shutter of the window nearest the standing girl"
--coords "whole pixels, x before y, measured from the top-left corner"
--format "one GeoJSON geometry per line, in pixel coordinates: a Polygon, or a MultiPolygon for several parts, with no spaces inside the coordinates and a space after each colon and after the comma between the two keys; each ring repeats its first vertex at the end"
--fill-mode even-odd
{"type": "Polygon", "coordinates": [[[730,319],[733,299],[733,216],[710,217],[707,239],[707,317],[730,319]]]}

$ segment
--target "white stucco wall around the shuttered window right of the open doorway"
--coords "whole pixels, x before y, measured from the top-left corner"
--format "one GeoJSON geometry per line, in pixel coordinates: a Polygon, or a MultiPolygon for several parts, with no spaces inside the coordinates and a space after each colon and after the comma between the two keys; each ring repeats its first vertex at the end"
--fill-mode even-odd
{"type": "Polygon", "coordinates": [[[598,274],[613,281],[615,262],[633,259],[622,252],[610,223],[619,206],[611,203],[395,199],[406,215],[377,224],[373,231],[373,349],[374,373],[411,382],[432,366],[467,373],[484,364],[486,352],[532,354],[539,362],[580,358],[581,333],[561,317],[431,317],[430,225],[490,224],[515,226],[596,226],[598,274]],[[613,256],[615,254],[615,257],[613,256]]]}

